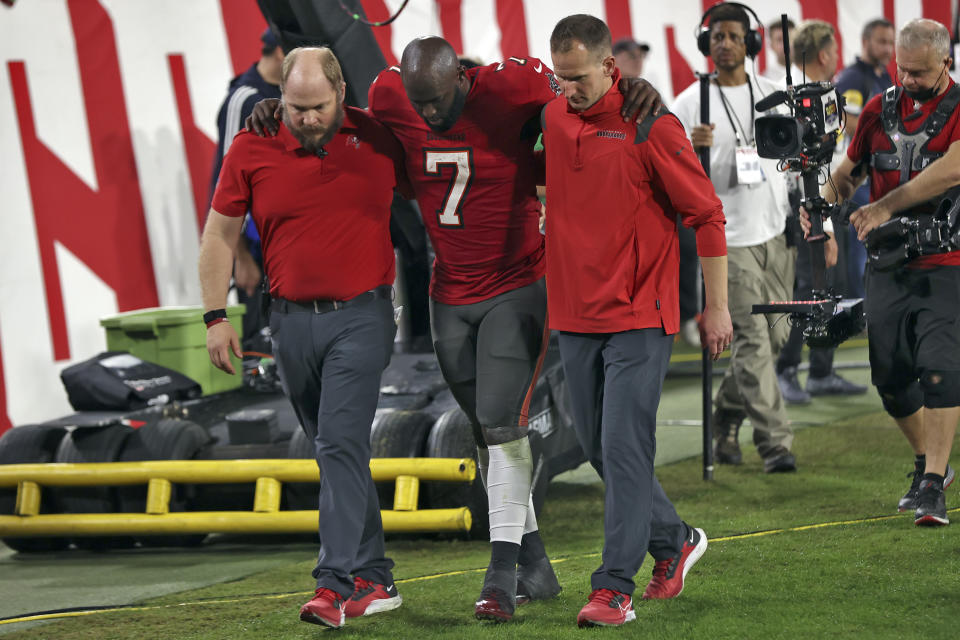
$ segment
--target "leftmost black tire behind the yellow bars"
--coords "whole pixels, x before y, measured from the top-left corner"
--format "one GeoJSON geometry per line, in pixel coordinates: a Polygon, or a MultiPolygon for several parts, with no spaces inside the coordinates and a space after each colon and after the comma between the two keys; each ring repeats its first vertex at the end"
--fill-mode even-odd
{"type": "MultiPolygon", "coordinates": [[[[67,430],[43,424],[15,427],[0,438],[0,464],[51,462],[67,430]]],[[[0,513],[13,514],[17,505],[17,490],[0,489],[0,513]]],[[[41,489],[40,513],[59,513],[54,492],[41,489]]],[[[4,538],[4,544],[21,553],[59,551],[66,549],[67,538],[4,538]]]]}

